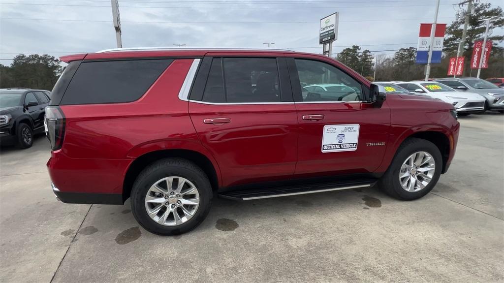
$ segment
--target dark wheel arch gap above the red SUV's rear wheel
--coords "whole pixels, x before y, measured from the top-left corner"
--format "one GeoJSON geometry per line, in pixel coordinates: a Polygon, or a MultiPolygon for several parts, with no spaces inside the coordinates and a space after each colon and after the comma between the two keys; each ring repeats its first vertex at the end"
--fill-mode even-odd
{"type": "Polygon", "coordinates": [[[194,162],[207,174],[210,180],[210,184],[212,185],[212,190],[216,191],[220,187],[220,170],[215,161],[213,159],[211,160],[211,158],[209,158],[205,154],[199,151],[188,149],[155,150],[146,152],[138,156],[128,167],[128,170],[124,174],[124,181],[122,184],[123,201],[130,197],[133,183],[137,179],[140,172],[142,172],[142,170],[148,165],[164,158],[183,158],[194,162]]]}

